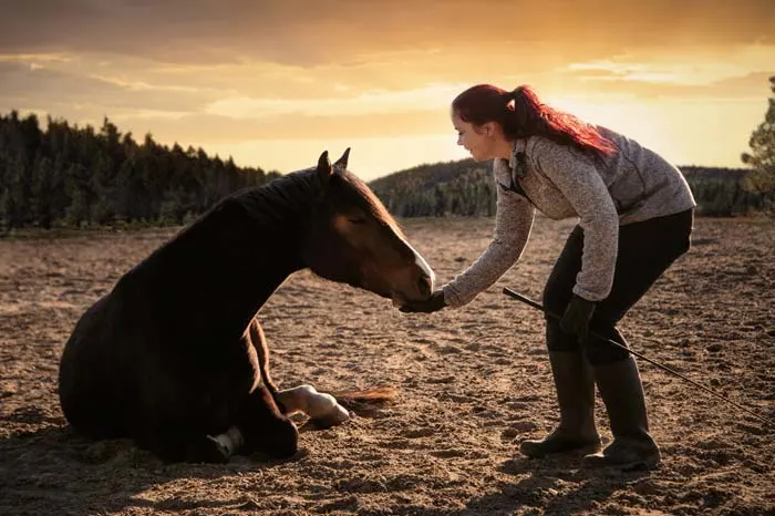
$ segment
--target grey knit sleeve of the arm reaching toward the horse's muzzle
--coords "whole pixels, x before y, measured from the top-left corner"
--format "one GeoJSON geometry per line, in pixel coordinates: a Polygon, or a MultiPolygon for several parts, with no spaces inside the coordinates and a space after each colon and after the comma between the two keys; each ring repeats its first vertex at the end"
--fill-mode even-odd
{"type": "Polygon", "coordinates": [[[519,257],[527,245],[535,208],[521,195],[498,186],[495,234],[485,251],[461,275],[442,287],[450,307],[462,307],[495,283],[519,257]]]}

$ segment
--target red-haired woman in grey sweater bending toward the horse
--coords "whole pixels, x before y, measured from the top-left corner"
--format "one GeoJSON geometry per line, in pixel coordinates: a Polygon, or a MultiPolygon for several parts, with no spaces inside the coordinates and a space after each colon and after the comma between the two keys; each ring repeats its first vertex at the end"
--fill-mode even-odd
{"type": "Polygon", "coordinates": [[[546,343],[559,425],[519,450],[530,457],[597,452],[587,466],[653,467],[640,374],[626,350],[588,338],[589,328],[623,345],[617,322],[690,247],[694,198],[683,175],[637,142],[542,104],[529,86],[513,92],[480,84],[452,103],[452,122],[476,161],[494,159],[495,235],[467,270],[405,312],[458,308],[518,259],[535,210],[578,217],[544,290],[546,343]],[[595,425],[595,383],[613,441],[602,452],[595,425]]]}

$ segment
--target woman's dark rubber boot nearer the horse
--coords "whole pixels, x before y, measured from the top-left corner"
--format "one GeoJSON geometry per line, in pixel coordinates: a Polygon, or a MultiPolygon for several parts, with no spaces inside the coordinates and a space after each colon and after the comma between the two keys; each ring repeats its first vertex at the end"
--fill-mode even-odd
{"type": "Polygon", "coordinates": [[[519,451],[528,457],[554,453],[596,452],[600,435],[595,427],[595,382],[581,353],[549,352],[555,378],[560,424],[544,440],[523,441],[519,451]]]}

